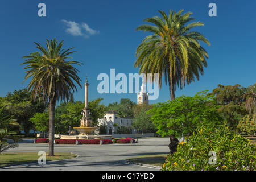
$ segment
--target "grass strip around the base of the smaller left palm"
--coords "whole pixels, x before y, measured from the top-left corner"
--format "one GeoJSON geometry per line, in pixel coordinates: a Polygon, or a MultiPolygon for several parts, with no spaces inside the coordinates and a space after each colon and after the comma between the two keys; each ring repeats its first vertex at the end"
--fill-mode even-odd
{"type": "MultiPolygon", "coordinates": [[[[46,153],[48,155],[48,153],[46,153]]],[[[55,153],[55,156],[46,156],[46,162],[50,160],[62,160],[75,158],[75,154],[71,153],[55,153]]],[[[34,163],[38,162],[38,153],[2,153],[0,154],[0,167],[12,166],[15,164],[34,163]]]]}

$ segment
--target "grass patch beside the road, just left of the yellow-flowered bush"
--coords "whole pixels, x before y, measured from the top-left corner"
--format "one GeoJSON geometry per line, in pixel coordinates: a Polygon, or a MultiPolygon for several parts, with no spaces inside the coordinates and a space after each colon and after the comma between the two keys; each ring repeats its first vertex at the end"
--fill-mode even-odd
{"type": "Polygon", "coordinates": [[[126,159],[130,162],[150,164],[154,166],[163,166],[167,156],[169,154],[154,154],[154,155],[141,155],[135,158],[126,159]]]}

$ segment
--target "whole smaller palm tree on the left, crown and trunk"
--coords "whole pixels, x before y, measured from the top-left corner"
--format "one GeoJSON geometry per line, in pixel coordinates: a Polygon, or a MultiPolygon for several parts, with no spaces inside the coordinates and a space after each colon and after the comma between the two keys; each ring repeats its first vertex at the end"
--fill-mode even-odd
{"type": "Polygon", "coordinates": [[[68,101],[74,90],[77,91],[74,81],[80,86],[81,79],[77,76],[78,69],[72,64],[81,65],[79,61],[68,61],[72,48],[62,49],[63,40],[58,44],[54,39],[49,42],[46,39],[46,48],[40,43],[35,43],[36,48],[41,52],[31,53],[23,56],[27,60],[27,69],[24,81],[32,77],[28,84],[31,90],[31,98],[36,100],[41,96],[43,100],[49,102],[49,155],[54,155],[54,130],[55,130],[55,105],[57,101],[68,101]],[[71,91],[72,90],[72,91],[71,91]]]}

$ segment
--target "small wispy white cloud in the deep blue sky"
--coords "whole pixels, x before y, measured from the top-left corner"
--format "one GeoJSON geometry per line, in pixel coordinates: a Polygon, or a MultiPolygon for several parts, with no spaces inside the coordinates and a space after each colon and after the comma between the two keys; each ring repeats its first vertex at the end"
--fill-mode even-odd
{"type": "Polygon", "coordinates": [[[87,23],[76,23],[72,21],[67,21],[65,19],[61,20],[66,26],[67,29],[65,30],[68,34],[73,36],[84,36],[85,38],[89,38],[90,35],[99,34],[100,31],[93,30],[88,26],[87,23]]]}

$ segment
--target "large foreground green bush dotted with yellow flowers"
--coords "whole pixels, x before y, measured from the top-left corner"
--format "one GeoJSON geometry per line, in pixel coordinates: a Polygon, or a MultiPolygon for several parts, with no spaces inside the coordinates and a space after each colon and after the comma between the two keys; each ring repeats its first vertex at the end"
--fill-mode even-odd
{"type": "Polygon", "coordinates": [[[185,140],[168,156],[163,171],[256,169],[256,146],[225,124],[216,128],[203,125],[185,140]]]}

